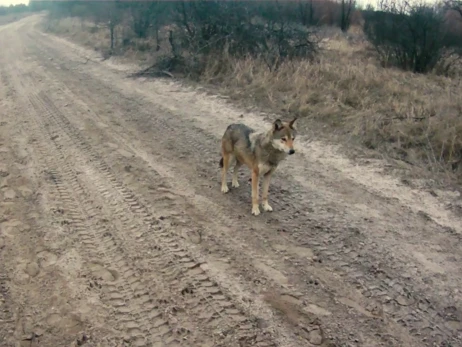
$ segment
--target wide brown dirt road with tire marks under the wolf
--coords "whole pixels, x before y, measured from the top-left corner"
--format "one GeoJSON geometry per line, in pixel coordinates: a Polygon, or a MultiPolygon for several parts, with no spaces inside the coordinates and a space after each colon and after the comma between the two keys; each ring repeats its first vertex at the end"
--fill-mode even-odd
{"type": "Polygon", "coordinates": [[[251,216],[219,142],[263,116],[38,21],[0,27],[1,346],[462,346],[457,193],[301,131],[251,216]]]}

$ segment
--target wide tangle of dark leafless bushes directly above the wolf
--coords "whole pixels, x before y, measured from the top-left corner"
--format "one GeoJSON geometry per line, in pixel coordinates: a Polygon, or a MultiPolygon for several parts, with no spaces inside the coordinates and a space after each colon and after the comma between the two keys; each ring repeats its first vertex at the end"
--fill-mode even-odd
{"type": "Polygon", "coordinates": [[[177,60],[181,56],[199,74],[207,59],[223,54],[259,57],[274,70],[285,60],[311,58],[316,52],[312,30],[296,17],[277,1],[177,2],[176,30],[170,32],[172,56],[177,60]]]}

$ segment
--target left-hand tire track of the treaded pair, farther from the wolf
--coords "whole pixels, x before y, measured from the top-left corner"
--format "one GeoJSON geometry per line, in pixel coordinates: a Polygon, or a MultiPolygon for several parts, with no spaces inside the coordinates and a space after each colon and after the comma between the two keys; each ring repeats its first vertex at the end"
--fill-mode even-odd
{"type": "MultiPolygon", "coordinates": [[[[33,96],[28,97],[30,98],[32,109],[26,110],[26,114],[32,115],[37,112],[37,116],[40,117],[40,110],[36,108],[33,96]]],[[[34,123],[36,130],[38,130],[37,134],[42,136],[47,134],[46,126],[42,122],[35,118],[34,123]]],[[[30,131],[30,129],[28,130],[30,131]]],[[[49,135],[50,138],[54,136],[49,135]]],[[[129,335],[129,340],[136,339],[139,334],[135,334],[138,331],[133,331],[132,326],[145,323],[143,321],[138,323],[131,318],[132,312],[136,310],[136,300],[132,299],[135,297],[135,293],[131,290],[130,284],[137,283],[138,279],[134,276],[133,271],[130,272],[131,269],[124,260],[123,250],[118,249],[116,245],[108,241],[108,235],[111,235],[108,228],[102,225],[95,226],[95,224],[88,222],[98,217],[99,212],[92,202],[85,198],[85,189],[80,184],[63,153],[59,150],[60,146],[57,145],[57,148],[53,148],[52,146],[56,146],[56,143],[47,143],[43,138],[37,140],[34,147],[38,150],[41,161],[43,161],[47,170],[48,180],[55,188],[54,200],[62,203],[60,210],[66,211],[67,223],[73,228],[73,233],[75,233],[73,237],[82,244],[83,253],[87,261],[91,262],[93,259],[100,259],[94,265],[101,264],[104,268],[110,268],[114,264],[117,266],[118,272],[111,272],[113,280],[109,280],[114,284],[105,284],[105,288],[108,288],[109,291],[111,288],[114,289],[114,292],[110,291],[107,296],[108,303],[116,310],[116,316],[122,316],[117,319],[119,330],[125,330],[129,335]],[[116,277],[119,278],[116,280],[116,277]]],[[[103,272],[103,277],[108,279],[107,273],[103,272]]],[[[137,312],[135,311],[134,313],[136,314],[137,312]]],[[[142,326],[142,330],[144,332],[147,328],[142,326]]],[[[138,341],[133,341],[135,345],[143,345],[140,343],[142,338],[140,337],[138,341]]]]}

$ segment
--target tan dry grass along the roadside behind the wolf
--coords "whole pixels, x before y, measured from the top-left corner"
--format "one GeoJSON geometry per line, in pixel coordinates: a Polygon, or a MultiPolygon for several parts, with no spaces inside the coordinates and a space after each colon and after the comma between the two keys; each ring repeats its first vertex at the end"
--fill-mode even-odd
{"type": "MultiPolygon", "coordinates": [[[[97,50],[109,46],[107,28],[77,19],[49,22],[48,29],[97,50]]],[[[348,36],[326,32],[317,62],[288,62],[270,72],[258,59],[215,57],[201,82],[234,99],[328,125],[394,158],[462,177],[460,78],[384,69],[357,28],[348,36]]],[[[135,40],[127,29],[116,34],[116,53],[139,62],[155,58],[153,42],[135,40]]]]}

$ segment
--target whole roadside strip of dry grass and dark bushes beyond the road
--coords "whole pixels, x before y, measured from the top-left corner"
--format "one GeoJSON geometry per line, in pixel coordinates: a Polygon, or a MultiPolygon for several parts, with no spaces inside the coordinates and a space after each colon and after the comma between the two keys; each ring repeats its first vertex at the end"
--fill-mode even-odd
{"type": "Polygon", "coordinates": [[[353,0],[40,2],[47,30],[462,177],[462,10],[353,0]],[[314,124],[314,123],[312,123],[314,124]]]}

